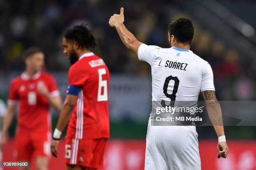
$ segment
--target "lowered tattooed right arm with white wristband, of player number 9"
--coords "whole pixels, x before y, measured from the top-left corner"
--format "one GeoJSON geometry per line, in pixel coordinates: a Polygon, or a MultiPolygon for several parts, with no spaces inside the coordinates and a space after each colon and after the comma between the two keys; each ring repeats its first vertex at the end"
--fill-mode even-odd
{"type": "Polygon", "coordinates": [[[202,91],[205,100],[206,110],[215,132],[218,136],[218,158],[226,158],[229,152],[223,128],[222,112],[214,90],[202,91]]]}

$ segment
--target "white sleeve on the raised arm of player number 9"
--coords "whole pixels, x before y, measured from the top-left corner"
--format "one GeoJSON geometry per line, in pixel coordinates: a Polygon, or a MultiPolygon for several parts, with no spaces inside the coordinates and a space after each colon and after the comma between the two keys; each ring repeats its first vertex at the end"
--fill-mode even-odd
{"type": "Polygon", "coordinates": [[[141,44],[138,48],[138,59],[146,61],[148,64],[152,64],[156,55],[156,52],[160,50],[160,47],[154,45],[141,44]]]}

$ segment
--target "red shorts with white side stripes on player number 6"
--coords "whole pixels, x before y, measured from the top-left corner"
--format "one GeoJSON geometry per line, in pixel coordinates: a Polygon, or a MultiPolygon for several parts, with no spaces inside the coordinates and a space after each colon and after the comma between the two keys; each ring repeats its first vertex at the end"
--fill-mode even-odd
{"type": "Polygon", "coordinates": [[[107,140],[107,138],[82,140],[67,138],[65,145],[66,164],[102,169],[107,140]]]}

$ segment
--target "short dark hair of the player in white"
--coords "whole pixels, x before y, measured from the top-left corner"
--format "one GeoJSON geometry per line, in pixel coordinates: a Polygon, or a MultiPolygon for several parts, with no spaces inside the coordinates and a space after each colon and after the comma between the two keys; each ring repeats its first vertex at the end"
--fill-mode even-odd
{"type": "Polygon", "coordinates": [[[170,35],[174,35],[177,41],[191,44],[194,36],[194,26],[191,20],[179,18],[169,24],[169,33],[170,35]]]}

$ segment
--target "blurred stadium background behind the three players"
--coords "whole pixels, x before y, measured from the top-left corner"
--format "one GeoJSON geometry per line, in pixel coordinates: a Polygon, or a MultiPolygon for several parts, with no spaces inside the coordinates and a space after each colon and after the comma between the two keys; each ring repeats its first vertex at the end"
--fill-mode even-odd
{"type": "MultiPolygon", "coordinates": [[[[148,45],[169,47],[168,23],[192,20],[195,36],[191,50],[207,60],[214,72],[218,100],[255,100],[255,0],[0,0],[0,98],[6,101],[10,80],[25,68],[20,57],[31,46],[46,55],[45,70],[54,75],[62,100],[67,89],[69,61],[61,37],[67,27],[88,23],[97,40],[93,50],[108,65],[111,140],[106,170],[143,169],[145,137],[151,110],[151,70],[121,43],[108,20],[125,9],[125,25],[148,45]]],[[[200,99],[201,96],[200,96],[200,99]]],[[[58,112],[52,110],[52,126],[58,112]]],[[[246,115],[245,115],[246,116],[246,115]]],[[[256,123],[255,123],[256,124],[256,123]]],[[[12,160],[16,120],[4,160],[12,160]]],[[[217,159],[215,131],[198,127],[202,170],[256,170],[256,126],[225,128],[230,147],[227,159],[217,159]]],[[[51,169],[64,166],[51,158],[51,169]]],[[[33,163],[32,163],[33,164],[33,163]]]]}

